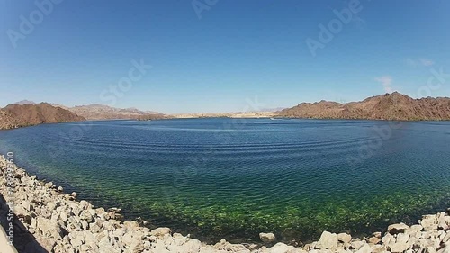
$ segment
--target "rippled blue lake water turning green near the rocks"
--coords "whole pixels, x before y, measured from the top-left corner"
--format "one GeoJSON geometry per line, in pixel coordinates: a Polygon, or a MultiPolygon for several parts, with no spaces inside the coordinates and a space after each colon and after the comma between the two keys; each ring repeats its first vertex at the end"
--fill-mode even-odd
{"type": "Polygon", "coordinates": [[[201,239],[313,239],[450,197],[450,122],[186,119],[0,131],[0,151],[97,206],[201,239]]]}

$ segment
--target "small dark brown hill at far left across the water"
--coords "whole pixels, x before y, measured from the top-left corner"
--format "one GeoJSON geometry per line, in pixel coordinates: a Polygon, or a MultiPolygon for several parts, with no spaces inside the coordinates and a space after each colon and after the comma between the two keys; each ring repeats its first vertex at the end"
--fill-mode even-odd
{"type": "Polygon", "coordinates": [[[41,123],[80,121],[85,121],[85,118],[47,103],[10,104],[0,109],[0,129],[19,128],[41,123]]]}

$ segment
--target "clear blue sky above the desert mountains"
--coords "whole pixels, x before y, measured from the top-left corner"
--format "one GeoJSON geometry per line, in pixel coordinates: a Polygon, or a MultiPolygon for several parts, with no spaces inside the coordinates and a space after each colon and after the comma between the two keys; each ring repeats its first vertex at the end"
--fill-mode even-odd
{"type": "Polygon", "coordinates": [[[450,96],[450,76],[428,84],[450,73],[449,1],[49,1],[0,0],[0,106],[195,113],[450,96]]]}

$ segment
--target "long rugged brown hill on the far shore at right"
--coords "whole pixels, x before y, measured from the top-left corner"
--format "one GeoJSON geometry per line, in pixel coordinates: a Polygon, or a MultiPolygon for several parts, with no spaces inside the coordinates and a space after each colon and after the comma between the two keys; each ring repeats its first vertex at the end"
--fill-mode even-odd
{"type": "Polygon", "coordinates": [[[450,98],[413,99],[408,95],[394,92],[347,104],[323,100],[316,103],[302,103],[277,114],[281,117],[307,119],[450,120],[450,98]]]}

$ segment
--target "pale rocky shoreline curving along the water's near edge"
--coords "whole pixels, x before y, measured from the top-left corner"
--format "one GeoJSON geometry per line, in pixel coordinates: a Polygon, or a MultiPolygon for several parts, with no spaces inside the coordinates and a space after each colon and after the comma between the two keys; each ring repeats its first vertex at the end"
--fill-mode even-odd
{"type": "Polygon", "coordinates": [[[261,233],[266,246],[232,244],[225,239],[208,245],[169,228],[150,230],[146,221],[121,221],[120,210],[94,208],[77,200],[76,193],[64,194],[61,186],[28,175],[3,156],[0,184],[0,222],[8,233],[8,212],[14,203],[14,246],[19,252],[450,253],[450,216],[446,212],[424,215],[412,226],[392,224],[387,231],[364,239],[324,231],[318,241],[294,247],[277,243],[272,233],[261,233]],[[12,189],[14,194],[8,193],[12,189]]]}

